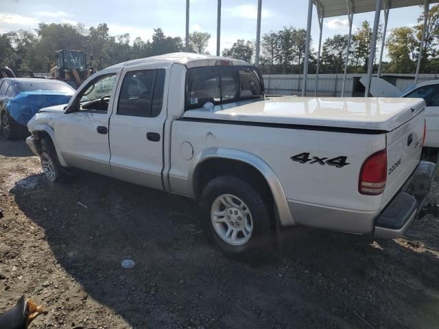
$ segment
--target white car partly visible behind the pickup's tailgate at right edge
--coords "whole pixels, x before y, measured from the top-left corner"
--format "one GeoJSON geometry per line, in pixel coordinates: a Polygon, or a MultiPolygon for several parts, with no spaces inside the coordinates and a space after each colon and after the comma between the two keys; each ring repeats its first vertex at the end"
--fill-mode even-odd
{"type": "Polygon", "coordinates": [[[439,150],[439,80],[417,84],[410,90],[406,90],[401,97],[416,97],[425,100],[427,136],[424,147],[431,156],[437,158],[439,150]]]}

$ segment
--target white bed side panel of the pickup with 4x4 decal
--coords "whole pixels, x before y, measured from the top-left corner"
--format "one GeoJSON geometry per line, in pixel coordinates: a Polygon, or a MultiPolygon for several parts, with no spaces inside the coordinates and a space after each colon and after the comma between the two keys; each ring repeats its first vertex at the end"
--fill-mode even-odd
{"type": "MultiPolygon", "coordinates": [[[[358,179],[364,160],[385,149],[385,134],[177,120],[173,124],[171,141],[169,182],[171,191],[176,193],[191,195],[187,178],[197,154],[209,147],[224,147],[244,150],[263,159],[276,173],[291,204],[341,208],[372,215],[381,208],[382,195],[359,194],[358,179]],[[180,148],[184,142],[193,146],[191,160],[182,157],[180,148]],[[292,156],[303,153],[309,153],[310,160],[304,163],[292,160],[292,156]],[[327,160],[340,156],[346,156],[346,165],[327,164],[327,160]],[[322,162],[313,157],[322,159],[322,162]]],[[[320,212],[320,215],[324,213],[320,212]]],[[[293,210],[292,217],[296,223],[309,224],[313,220],[303,211],[295,214],[293,210]]],[[[372,229],[371,223],[368,229],[372,229]]]]}

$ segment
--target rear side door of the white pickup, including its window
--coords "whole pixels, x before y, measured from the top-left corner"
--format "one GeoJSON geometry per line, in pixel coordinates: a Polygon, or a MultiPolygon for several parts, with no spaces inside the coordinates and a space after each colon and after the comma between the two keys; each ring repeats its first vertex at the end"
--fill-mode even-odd
{"type": "Polygon", "coordinates": [[[110,166],[121,180],[163,189],[165,69],[126,71],[110,119],[110,166]]]}

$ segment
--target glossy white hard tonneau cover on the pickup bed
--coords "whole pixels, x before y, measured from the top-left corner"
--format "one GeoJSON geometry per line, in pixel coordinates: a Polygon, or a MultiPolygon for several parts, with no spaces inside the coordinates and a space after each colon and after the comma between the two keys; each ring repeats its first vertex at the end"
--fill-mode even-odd
{"type": "Polygon", "coordinates": [[[183,117],[390,132],[423,108],[425,101],[417,98],[287,96],[188,110],[183,117]]]}

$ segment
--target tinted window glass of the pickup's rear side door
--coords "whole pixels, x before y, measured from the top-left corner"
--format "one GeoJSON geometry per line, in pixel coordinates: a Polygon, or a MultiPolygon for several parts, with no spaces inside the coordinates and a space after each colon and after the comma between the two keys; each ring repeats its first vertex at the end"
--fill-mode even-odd
{"type": "Polygon", "coordinates": [[[126,73],[119,95],[117,114],[157,117],[162,108],[164,86],[164,69],[126,73]]]}

